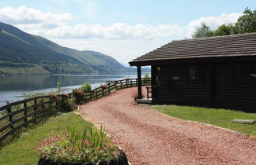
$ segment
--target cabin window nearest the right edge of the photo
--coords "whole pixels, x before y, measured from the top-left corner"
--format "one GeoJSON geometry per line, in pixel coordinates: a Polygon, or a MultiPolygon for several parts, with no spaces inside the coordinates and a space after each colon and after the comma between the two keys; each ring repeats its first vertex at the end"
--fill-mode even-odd
{"type": "Polygon", "coordinates": [[[251,80],[252,65],[248,63],[235,64],[234,80],[235,83],[249,83],[251,80]]]}

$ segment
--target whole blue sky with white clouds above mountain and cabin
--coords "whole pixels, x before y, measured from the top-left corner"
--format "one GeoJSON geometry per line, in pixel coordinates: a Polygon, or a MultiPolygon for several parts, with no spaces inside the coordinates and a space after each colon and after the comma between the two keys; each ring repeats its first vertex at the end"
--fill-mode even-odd
{"type": "Polygon", "coordinates": [[[255,0],[1,0],[0,22],[128,64],[172,40],[235,23],[255,0]]]}

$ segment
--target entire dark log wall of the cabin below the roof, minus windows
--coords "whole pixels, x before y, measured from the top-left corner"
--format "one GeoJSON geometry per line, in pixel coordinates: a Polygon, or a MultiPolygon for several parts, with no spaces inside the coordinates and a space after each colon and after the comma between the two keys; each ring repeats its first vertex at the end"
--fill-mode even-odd
{"type": "MultiPolygon", "coordinates": [[[[256,64],[250,63],[256,71],[256,64]]],[[[256,79],[237,83],[235,63],[152,65],[152,103],[256,110],[256,79]],[[190,66],[204,68],[201,82],[190,81],[190,66]],[[158,79],[158,80],[156,80],[158,79]],[[158,83],[157,83],[158,81],[158,83]]]]}

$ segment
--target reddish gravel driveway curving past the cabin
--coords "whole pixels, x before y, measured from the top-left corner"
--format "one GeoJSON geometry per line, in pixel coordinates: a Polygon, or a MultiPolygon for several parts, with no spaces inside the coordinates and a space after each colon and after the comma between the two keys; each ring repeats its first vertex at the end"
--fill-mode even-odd
{"type": "Polygon", "coordinates": [[[256,165],[256,138],[134,105],[134,94],[137,88],[119,90],[79,111],[92,123],[104,124],[130,163],[256,165]]]}

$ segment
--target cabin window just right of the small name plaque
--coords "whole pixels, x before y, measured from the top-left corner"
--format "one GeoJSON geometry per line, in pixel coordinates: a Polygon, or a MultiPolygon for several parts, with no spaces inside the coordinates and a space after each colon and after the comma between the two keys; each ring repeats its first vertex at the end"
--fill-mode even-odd
{"type": "Polygon", "coordinates": [[[205,70],[202,66],[194,65],[189,69],[190,82],[202,82],[204,79],[205,70]]]}

